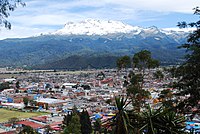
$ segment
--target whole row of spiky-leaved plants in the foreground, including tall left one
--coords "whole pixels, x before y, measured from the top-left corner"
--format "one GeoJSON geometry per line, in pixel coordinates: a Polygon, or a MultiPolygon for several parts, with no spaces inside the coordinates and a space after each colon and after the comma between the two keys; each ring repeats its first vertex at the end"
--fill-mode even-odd
{"type": "MultiPolygon", "coordinates": [[[[150,105],[140,112],[127,110],[131,101],[116,97],[118,112],[113,118],[112,131],[115,134],[183,134],[185,117],[171,109],[161,106],[158,109],[150,105]]],[[[96,123],[94,123],[95,125],[96,123]]],[[[94,126],[95,127],[95,126],[94,126]]]]}

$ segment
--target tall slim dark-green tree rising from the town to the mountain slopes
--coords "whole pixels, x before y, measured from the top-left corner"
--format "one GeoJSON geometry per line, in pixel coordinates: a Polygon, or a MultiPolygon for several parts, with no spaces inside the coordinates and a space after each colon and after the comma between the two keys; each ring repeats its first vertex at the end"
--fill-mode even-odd
{"type": "Polygon", "coordinates": [[[158,67],[159,61],[151,57],[151,52],[142,50],[134,54],[132,62],[133,68],[137,68],[138,71],[129,73],[130,84],[127,86],[127,95],[132,99],[135,110],[140,111],[150,96],[150,92],[145,90],[143,86],[146,76],[145,70],[158,67]]]}

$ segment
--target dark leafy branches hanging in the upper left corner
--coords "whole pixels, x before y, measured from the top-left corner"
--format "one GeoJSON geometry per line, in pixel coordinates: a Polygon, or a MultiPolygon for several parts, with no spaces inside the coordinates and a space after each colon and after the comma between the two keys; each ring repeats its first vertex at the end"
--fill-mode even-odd
{"type": "Polygon", "coordinates": [[[11,23],[7,20],[11,11],[14,11],[18,5],[25,6],[21,0],[0,0],[0,26],[11,29],[11,23]]]}

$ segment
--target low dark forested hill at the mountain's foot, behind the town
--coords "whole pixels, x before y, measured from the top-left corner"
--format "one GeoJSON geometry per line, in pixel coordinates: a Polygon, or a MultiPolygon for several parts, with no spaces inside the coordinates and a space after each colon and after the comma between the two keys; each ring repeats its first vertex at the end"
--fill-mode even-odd
{"type": "Polygon", "coordinates": [[[114,68],[116,67],[117,56],[99,55],[99,56],[84,56],[74,55],[68,58],[57,60],[55,62],[48,62],[42,65],[37,65],[36,69],[69,69],[80,70],[90,68],[114,68]]]}

